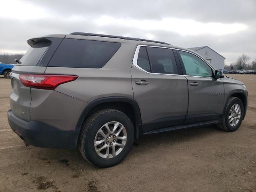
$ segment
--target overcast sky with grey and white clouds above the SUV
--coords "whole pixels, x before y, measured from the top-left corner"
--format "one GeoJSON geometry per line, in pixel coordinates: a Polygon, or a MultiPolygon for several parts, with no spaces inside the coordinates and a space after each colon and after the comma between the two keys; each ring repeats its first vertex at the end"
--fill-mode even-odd
{"type": "Polygon", "coordinates": [[[209,46],[256,58],[256,0],[1,0],[0,54],[25,53],[45,34],[101,33],[209,46]]]}

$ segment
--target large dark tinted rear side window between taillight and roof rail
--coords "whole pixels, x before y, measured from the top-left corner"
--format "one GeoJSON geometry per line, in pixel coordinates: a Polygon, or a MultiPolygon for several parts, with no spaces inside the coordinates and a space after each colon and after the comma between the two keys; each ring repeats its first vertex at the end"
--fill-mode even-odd
{"type": "Polygon", "coordinates": [[[48,66],[102,68],[120,46],[116,42],[64,39],[48,66]]]}

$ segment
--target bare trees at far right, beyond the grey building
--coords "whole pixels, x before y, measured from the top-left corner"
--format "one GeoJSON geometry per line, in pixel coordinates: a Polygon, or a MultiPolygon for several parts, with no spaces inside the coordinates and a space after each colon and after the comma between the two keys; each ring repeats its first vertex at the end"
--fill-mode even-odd
{"type": "Polygon", "coordinates": [[[230,65],[225,64],[224,69],[256,70],[256,59],[250,62],[250,57],[243,53],[240,57],[237,58],[236,62],[232,62],[230,65]]]}

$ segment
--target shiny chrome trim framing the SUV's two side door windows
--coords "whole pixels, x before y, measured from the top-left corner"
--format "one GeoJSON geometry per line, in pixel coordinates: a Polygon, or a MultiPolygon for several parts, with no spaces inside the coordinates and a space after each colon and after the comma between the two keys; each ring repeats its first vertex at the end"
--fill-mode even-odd
{"type": "MultiPolygon", "coordinates": [[[[148,74],[156,74],[156,75],[174,75],[174,76],[187,76],[187,77],[201,77],[201,78],[213,78],[213,77],[202,77],[202,76],[192,76],[192,75],[179,75],[179,74],[164,74],[164,73],[151,73],[151,72],[147,72],[146,70],[142,69],[140,66],[137,65],[137,61],[138,61],[138,55],[139,55],[139,51],[140,51],[140,47],[155,47],[155,48],[165,48],[165,49],[172,49],[172,50],[178,50],[178,51],[184,51],[184,52],[188,52],[191,53],[195,56],[197,56],[198,58],[200,58],[203,62],[205,62],[201,57],[199,57],[198,55],[190,52],[190,51],[186,51],[186,50],[182,50],[182,49],[176,49],[176,48],[170,48],[170,47],[162,47],[162,46],[152,46],[152,45],[138,45],[136,47],[134,56],[133,56],[133,60],[132,60],[132,65],[135,66],[136,68],[138,68],[139,70],[146,72],[148,74]]],[[[214,68],[212,68],[207,62],[205,62],[213,71],[214,68]]]]}

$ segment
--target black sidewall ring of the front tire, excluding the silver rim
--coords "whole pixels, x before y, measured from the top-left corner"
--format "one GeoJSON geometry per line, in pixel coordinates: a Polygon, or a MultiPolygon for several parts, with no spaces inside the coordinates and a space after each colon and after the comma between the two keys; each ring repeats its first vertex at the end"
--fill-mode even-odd
{"type": "Polygon", "coordinates": [[[242,123],[243,117],[244,117],[244,105],[243,105],[242,101],[239,98],[234,98],[229,103],[229,105],[228,105],[228,107],[226,109],[226,113],[225,113],[225,125],[226,125],[226,128],[228,129],[228,131],[235,131],[235,130],[237,130],[240,127],[241,123],[242,123]],[[231,107],[234,104],[239,104],[239,106],[241,108],[241,117],[240,117],[240,120],[239,120],[239,122],[238,122],[238,124],[236,126],[231,126],[229,124],[228,116],[229,116],[230,109],[231,109],[231,107]]]}

